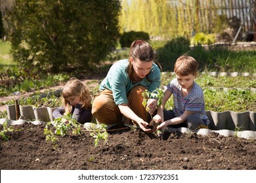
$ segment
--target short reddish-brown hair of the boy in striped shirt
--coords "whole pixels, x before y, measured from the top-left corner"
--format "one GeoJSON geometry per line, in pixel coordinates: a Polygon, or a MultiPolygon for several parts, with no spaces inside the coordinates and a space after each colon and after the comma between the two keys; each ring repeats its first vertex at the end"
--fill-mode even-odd
{"type": "Polygon", "coordinates": [[[189,74],[197,75],[198,62],[191,56],[180,56],[174,65],[174,72],[179,76],[187,76],[189,74]]]}

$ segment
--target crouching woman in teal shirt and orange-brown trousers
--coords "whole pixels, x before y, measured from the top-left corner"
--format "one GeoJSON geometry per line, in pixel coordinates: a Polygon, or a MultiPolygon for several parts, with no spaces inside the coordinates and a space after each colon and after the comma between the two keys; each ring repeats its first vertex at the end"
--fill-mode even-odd
{"type": "MultiPolygon", "coordinates": [[[[111,125],[121,123],[121,117],[136,122],[145,132],[148,114],[142,106],[144,90],[152,92],[160,87],[161,74],[154,63],[154,50],[145,41],[134,41],[129,59],[122,59],[112,65],[108,75],[100,84],[100,93],[93,101],[92,113],[99,123],[111,125]]],[[[148,101],[150,113],[157,107],[157,99],[148,101]]]]}

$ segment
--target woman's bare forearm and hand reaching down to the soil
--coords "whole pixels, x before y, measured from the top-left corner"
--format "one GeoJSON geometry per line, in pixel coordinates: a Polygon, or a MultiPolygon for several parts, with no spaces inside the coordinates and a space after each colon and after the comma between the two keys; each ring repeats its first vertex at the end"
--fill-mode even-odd
{"type": "Polygon", "coordinates": [[[152,129],[147,129],[146,126],[148,125],[147,122],[144,122],[142,118],[137,116],[131,108],[128,107],[127,104],[121,104],[118,105],[120,112],[127,118],[133,120],[134,122],[137,122],[137,124],[140,126],[140,128],[145,132],[152,132],[152,129]]]}

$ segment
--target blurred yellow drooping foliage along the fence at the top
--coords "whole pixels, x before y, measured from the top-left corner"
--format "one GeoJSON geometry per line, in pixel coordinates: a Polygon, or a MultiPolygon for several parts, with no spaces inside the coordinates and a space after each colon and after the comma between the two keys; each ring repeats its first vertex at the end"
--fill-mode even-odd
{"type": "MultiPolygon", "coordinates": [[[[194,33],[219,33],[226,28],[226,14],[244,14],[245,1],[152,0],[121,1],[120,31],[144,31],[154,40],[186,37],[194,33]],[[221,15],[220,15],[221,14],[221,15]]],[[[241,16],[240,16],[241,17],[241,16]]]]}

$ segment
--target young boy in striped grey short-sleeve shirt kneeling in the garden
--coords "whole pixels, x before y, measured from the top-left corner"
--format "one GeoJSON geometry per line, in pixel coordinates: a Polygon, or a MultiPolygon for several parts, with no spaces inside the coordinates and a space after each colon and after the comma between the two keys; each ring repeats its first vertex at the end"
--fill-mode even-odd
{"type": "Polygon", "coordinates": [[[168,85],[163,95],[158,114],[154,116],[156,122],[162,122],[158,129],[170,127],[188,127],[197,129],[199,125],[208,125],[205,115],[205,104],[202,88],[194,82],[198,73],[198,62],[190,56],[181,56],[174,65],[176,78],[168,85]],[[173,110],[164,110],[165,103],[173,94],[173,110]]]}

